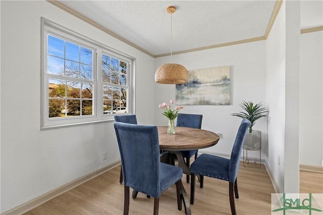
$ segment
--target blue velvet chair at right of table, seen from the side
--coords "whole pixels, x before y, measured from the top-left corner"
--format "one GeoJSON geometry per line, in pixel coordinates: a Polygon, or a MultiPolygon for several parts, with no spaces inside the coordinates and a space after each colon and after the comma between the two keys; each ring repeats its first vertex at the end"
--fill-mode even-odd
{"type": "Polygon", "coordinates": [[[237,174],[239,170],[239,163],[244,137],[251,122],[243,119],[233,144],[231,158],[223,158],[214,155],[202,154],[191,165],[191,204],[194,204],[195,194],[195,174],[200,175],[200,187],[203,187],[203,176],[217,178],[229,181],[229,199],[231,206],[231,213],[236,213],[236,206],[233,194],[239,198],[237,174]]]}

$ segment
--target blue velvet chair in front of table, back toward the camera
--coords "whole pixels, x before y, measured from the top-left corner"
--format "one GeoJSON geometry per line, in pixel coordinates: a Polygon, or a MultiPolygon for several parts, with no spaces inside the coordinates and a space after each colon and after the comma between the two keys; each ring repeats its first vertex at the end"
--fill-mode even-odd
{"type": "Polygon", "coordinates": [[[154,125],[115,122],[124,177],[124,214],[129,213],[129,187],[154,198],[153,214],[158,214],[159,196],[176,184],[177,206],[182,209],[183,170],[160,163],[158,130],[154,125]]]}

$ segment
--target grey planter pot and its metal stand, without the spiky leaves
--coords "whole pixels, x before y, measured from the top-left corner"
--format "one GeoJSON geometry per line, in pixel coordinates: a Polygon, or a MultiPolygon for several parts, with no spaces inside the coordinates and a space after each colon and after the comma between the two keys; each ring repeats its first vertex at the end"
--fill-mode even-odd
{"type": "Polygon", "coordinates": [[[254,162],[257,168],[261,167],[261,132],[259,130],[252,130],[250,133],[247,130],[244,142],[243,142],[243,166],[247,167],[250,162],[254,162]],[[248,159],[248,150],[259,151],[260,164],[257,166],[257,162],[248,159]],[[246,158],[244,156],[244,151],[246,151],[246,158]]]}

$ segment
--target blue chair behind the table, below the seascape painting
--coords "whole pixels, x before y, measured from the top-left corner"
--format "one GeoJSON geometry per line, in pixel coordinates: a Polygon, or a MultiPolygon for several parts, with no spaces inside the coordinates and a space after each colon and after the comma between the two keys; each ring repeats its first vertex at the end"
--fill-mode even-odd
{"type": "MultiPolygon", "coordinates": [[[[199,114],[187,114],[180,113],[177,116],[177,127],[190,127],[190,128],[201,128],[202,125],[202,115],[199,114]]],[[[195,159],[197,158],[197,150],[188,150],[188,151],[180,151],[184,158],[186,166],[190,167],[190,159],[193,155],[195,155],[195,159]]],[[[186,176],[186,182],[190,183],[190,176],[186,176]]]]}

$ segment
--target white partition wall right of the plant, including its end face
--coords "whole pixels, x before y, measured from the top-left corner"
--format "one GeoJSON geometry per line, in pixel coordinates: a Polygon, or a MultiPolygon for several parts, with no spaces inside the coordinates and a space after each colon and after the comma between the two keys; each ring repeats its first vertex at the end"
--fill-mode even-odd
{"type": "Polygon", "coordinates": [[[305,114],[300,111],[299,23],[299,2],[284,1],[267,38],[267,162],[279,191],[285,193],[299,192],[300,118],[305,114]]]}

